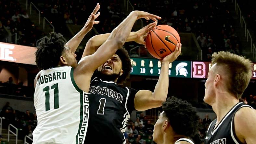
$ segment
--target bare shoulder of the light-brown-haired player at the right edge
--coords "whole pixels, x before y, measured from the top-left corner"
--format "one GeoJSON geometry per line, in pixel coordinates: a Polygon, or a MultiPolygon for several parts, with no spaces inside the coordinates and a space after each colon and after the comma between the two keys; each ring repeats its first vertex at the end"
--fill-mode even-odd
{"type": "Polygon", "coordinates": [[[237,138],[246,144],[256,141],[256,110],[243,107],[235,114],[235,132],[237,138]]]}

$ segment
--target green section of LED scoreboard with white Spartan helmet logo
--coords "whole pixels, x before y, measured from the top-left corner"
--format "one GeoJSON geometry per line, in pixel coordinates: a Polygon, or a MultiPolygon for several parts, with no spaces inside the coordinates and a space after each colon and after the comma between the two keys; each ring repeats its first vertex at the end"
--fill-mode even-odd
{"type": "MultiPolygon", "coordinates": [[[[161,62],[158,59],[131,58],[131,75],[159,76],[161,62]]],[[[169,64],[169,77],[191,78],[191,61],[174,61],[169,64]]]]}

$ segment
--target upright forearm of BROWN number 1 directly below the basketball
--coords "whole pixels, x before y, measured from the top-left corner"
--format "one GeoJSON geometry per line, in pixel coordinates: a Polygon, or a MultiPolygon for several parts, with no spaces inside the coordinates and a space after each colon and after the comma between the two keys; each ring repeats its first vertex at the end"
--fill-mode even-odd
{"type": "Polygon", "coordinates": [[[161,73],[154,90],[155,99],[158,99],[161,102],[164,102],[166,100],[166,97],[168,94],[168,88],[169,88],[168,70],[169,70],[169,63],[162,62],[161,73]]]}

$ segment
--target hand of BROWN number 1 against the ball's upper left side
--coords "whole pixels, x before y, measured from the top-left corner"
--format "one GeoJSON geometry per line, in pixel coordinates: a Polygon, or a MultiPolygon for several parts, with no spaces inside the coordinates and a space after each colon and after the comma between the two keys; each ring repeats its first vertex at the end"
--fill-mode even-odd
{"type": "Polygon", "coordinates": [[[145,38],[147,37],[147,34],[149,33],[150,30],[155,28],[157,26],[157,22],[153,22],[148,24],[147,26],[143,27],[142,29],[138,30],[135,32],[136,39],[135,42],[139,44],[143,44],[146,47],[146,42],[144,41],[145,38]]]}

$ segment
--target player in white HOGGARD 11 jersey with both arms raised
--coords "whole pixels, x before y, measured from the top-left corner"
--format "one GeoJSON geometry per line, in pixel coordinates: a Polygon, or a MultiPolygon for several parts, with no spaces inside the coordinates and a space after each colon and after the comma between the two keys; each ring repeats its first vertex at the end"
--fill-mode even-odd
{"type": "Polygon", "coordinates": [[[146,12],[132,12],[96,53],[83,57],[77,64],[74,52],[93,24],[98,23],[94,19],[99,15],[96,15],[99,7],[97,4],[84,29],[67,44],[62,35],[51,33],[37,48],[36,64],[42,71],[35,80],[34,105],[38,120],[33,131],[35,144],[84,142],[89,117],[88,90],[94,71],[122,47],[136,19],[158,18],[146,12]]]}

